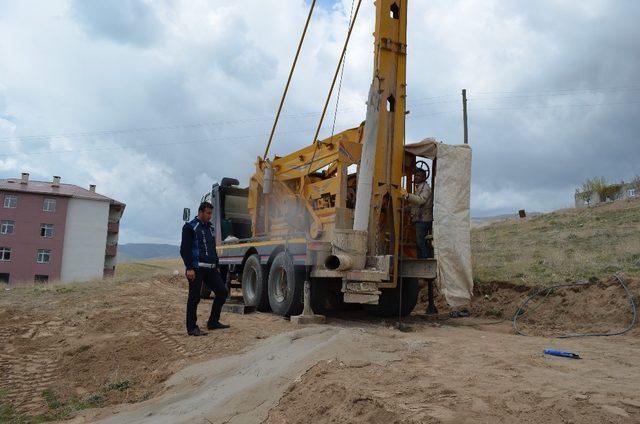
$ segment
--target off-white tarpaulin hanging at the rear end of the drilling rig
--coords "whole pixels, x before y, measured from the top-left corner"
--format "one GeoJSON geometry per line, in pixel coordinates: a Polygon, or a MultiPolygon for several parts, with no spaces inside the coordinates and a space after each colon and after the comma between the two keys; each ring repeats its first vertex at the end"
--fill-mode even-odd
{"type": "Polygon", "coordinates": [[[452,307],[467,305],[473,293],[471,272],[471,149],[427,139],[406,146],[416,156],[436,160],[433,187],[433,244],[438,286],[452,307]]]}

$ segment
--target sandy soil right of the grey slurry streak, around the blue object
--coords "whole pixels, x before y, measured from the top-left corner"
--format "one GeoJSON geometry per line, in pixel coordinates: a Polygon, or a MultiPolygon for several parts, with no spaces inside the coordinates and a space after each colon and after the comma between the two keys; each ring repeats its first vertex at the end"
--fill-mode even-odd
{"type": "Polygon", "coordinates": [[[552,341],[468,327],[369,330],[401,360],[321,362],[268,423],[607,423],[640,421],[637,340],[552,341]],[[614,347],[615,346],[615,347],[614,347]],[[585,359],[547,357],[547,347],[585,359]]]}

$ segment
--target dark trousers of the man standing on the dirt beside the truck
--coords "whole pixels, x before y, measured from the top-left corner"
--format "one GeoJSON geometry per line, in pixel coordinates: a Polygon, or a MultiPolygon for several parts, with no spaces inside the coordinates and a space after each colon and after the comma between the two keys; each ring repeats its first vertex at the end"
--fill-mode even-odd
{"type": "Polygon", "coordinates": [[[227,300],[229,291],[224,285],[220,272],[217,269],[199,268],[196,269],[196,278],[189,281],[189,298],[187,299],[187,331],[196,328],[198,319],[198,303],[200,303],[200,291],[205,284],[214,294],[215,299],[211,305],[211,315],[207,324],[215,324],[220,321],[222,305],[227,300]]]}

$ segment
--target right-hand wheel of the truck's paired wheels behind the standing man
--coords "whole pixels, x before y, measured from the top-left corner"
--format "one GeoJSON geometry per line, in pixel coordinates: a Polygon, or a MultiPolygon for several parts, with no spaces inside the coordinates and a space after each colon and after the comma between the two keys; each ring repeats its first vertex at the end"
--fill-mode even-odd
{"type": "Polygon", "coordinates": [[[302,312],[302,289],[304,268],[296,270],[293,259],[280,252],[269,270],[269,305],[281,316],[297,315],[302,312]]]}

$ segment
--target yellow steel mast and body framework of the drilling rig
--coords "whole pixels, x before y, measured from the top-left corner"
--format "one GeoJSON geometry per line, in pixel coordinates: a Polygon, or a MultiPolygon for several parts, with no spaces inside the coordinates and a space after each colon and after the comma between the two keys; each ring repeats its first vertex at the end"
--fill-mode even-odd
{"type": "MultiPolygon", "coordinates": [[[[381,104],[368,251],[369,255],[393,255],[397,269],[404,171],[407,0],[376,0],[375,4],[373,86],[380,92],[381,104]]],[[[282,236],[306,229],[311,238],[327,241],[323,235],[331,233],[331,226],[345,225],[350,216],[347,168],[360,162],[362,137],[363,125],[276,157],[270,163],[259,157],[249,191],[254,236],[282,236]],[[275,177],[269,195],[262,194],[266,166],[273,167],[275,177]],[[340,224],[337,214],[344,215],[340,224]]]]}

